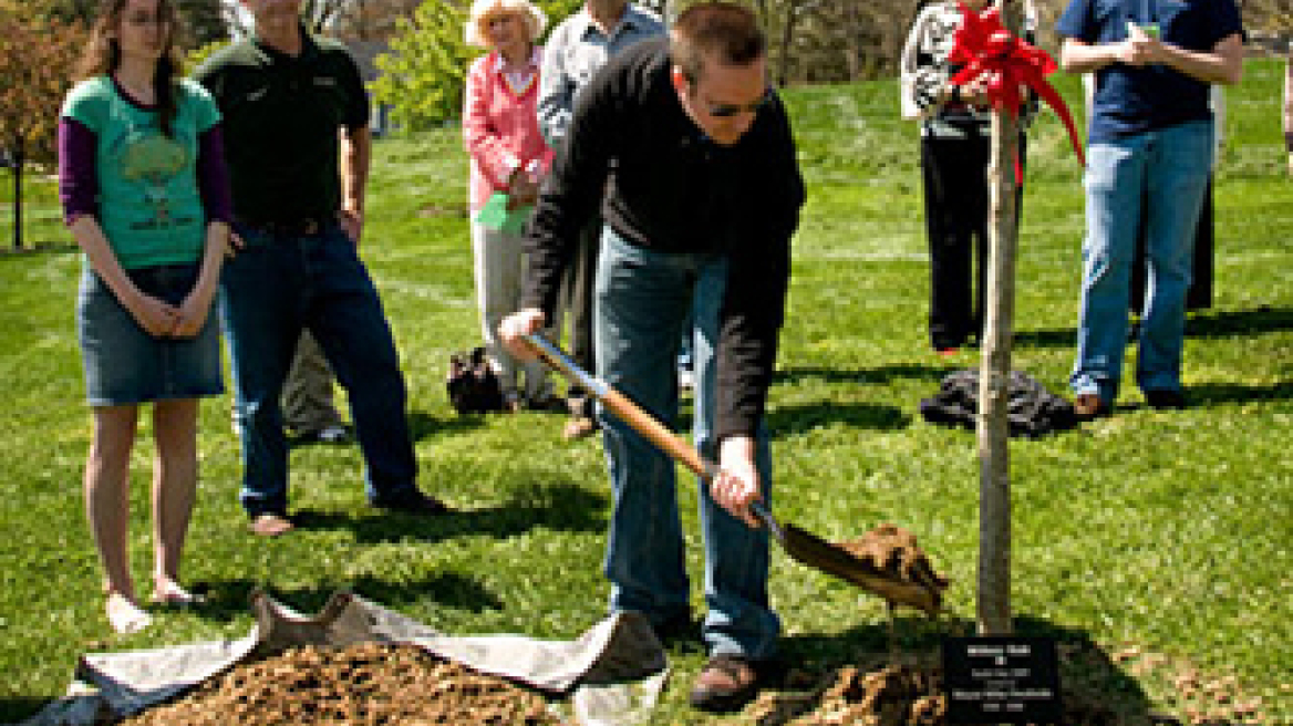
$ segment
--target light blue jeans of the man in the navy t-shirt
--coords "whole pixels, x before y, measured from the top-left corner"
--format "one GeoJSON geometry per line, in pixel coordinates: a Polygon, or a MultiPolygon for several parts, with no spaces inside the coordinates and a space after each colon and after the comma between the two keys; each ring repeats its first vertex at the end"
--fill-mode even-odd
{"type": "Polygon", "coordinates": [[[1137,227],[1146,220],[1148,295],[1137,385],[1181,390],[1195,226],[1212,168],[1213,123],[1093,143],[1086,159],[1086,239],[1077,360],[1069,385],[1113,403],[1122,376],[1137,227]]]}

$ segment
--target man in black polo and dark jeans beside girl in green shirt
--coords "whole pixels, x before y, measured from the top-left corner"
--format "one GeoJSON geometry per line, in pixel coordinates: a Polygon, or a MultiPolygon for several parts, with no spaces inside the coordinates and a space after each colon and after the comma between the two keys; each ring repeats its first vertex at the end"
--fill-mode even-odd
{"type": "Polygon", "coordinates": [[[369,501],[442,513],[416,487],[394,338],[358,257],[372,142],[358,68],[341,45],[305,32],[300,0],[242,3],[255,37],[217,52],[197,79],[225,120],[237,254],[221,278],[221,315],[252,531],[292,528],[279,394],[303,329],[349,394],[369,501]]]}

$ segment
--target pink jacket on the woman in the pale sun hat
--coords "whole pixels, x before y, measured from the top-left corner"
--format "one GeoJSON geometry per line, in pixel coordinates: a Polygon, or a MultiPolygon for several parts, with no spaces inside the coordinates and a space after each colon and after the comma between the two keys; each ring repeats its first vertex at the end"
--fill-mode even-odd
{"type": "Polygon", "coordinates": [[[477,58],[467,71],[463,102],[463,143],[471,156],[471,205],[480,209],[490,194],[507,190],[517,168],[531,167],[538,178],[552,164],[552,150],[539,133],[539,56],[530,66],[533,80],[517,94],[503,76],[498,53],[477,58]]]}

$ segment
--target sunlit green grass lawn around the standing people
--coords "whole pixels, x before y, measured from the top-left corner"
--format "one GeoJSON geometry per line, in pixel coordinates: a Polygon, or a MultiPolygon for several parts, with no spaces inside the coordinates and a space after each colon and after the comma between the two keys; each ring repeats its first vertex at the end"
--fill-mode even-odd
{"type": "MultiPolygon", "coordinates": [[[[1011,446],[1018,630],[1060,638],[1067,682],[1094,683],[1129,723],[1148,710],[1187,718],[1209,708],[1232,722],[1293,723],[1293,214],[1281,78],[1281,62],[1252,61],[1230,96],[1217,300],[1191,322],[1186,347],[1193,406],[1155,412],[1126,385],[1115,417],[1011,446]]],[[[1074,79],[1058,84],[1080,112],[1074,79]]],[[[953,579],[950,607],[972,617],[975,437],[926,424],[917,404],[944,375],[979,360],[972,351],[937,358],[926,341],[917,130],[899,119],[895,81],[786,97],[809,203],[768,415],[776,509],[834,540],[879,522],[909,527],[953,579]]],[[[257,586],[304,611],[353,588],[460,634],[572,638],[604,615],[610,499],[597,441],[564,444],[553,415],[456,416],[443,393],[447,355],[480,336],[465,177],[455,129],[380,141],[363,243],[411,389],[422,482],[462,512],[433,522],[374,514],[356,448],[300,447],[292,506],[305,526],[253,539],[237,503],[230,400],[208,400],[184,575],[207,584],[212,602],[160,614],[149,632],[124,638],[102,616],[81,508],[89,415],[72,323],[80,262],[48,182],[28,192],[27,238],[37,249],[0,254],[0,721],[59,695],[87,650],[244,634],[257,586]]],[[[0,211],[8,245],[9,208],[0,211]]],[[[1080,169],[1047,115],[1029,147],[1014,366],[1065,394],[1081,236],[1080,169]]],[[[145,592],[147,429],[131,536],[145,592]]],[[[700,572],[696,515],[684,515],[700,572]]],[[[780,553],[772,598],[785,654],[802,668],[857,663],[886,647],[882,603],[780,553]]],[[[912,650],[936,643],[915,619],[904,617],[901,630],[912,650]]],[[[656,722],[718,723],[685,705],[703,655],[671,658],[676,673],[656,722]]]]}

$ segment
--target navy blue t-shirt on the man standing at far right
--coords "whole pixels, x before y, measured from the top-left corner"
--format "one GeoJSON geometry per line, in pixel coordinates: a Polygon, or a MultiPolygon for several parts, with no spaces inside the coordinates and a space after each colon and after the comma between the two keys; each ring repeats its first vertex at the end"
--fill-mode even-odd
{"type": "MultiPolygon", "coordinates": [[[[1157,23],[1164,43],[1196,52],[1244,32],[1234,0],[1072,0],[1055,32],[1090,45],[1120,43],[1129,21],[1157,23]]],[[[1166,66],[1109,63],[1095,71],[1087,143],[1209,118],[1208,84],[1166,66]]]]}

